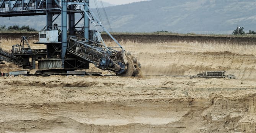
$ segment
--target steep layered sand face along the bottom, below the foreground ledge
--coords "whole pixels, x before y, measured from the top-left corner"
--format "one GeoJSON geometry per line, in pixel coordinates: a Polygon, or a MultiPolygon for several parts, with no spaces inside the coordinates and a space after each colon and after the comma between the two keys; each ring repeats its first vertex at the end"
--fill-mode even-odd
{"type": "Polygon", "coordinates": [[[254,133],[256,122],[251,119],[255,117],[255,104],[251,102],[249,98],[214,97],[1,104],[5,121],[0,129],[57,133],[254,133]]]}

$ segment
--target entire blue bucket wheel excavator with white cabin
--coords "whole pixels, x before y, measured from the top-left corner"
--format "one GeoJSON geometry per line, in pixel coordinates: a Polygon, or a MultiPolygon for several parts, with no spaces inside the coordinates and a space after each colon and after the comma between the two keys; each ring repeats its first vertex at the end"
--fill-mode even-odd
{"type": "MultiPolygon", "coordinates": [[[[43,30],[39,31],[39,41],[35,43],[45,44],[46,49],[28,47],[20,52],[14,46],[12,53],[0,51],[0,59],[7,62],[19,59],[16,64],[31,69],[37,69],[37,61],[40,73],[65,73],[88,69],[89,64],[94,64],[101,70],[115,72],[117,76],[141,76],[137,58],[127,52],[96,18],[89,8],[89,1],[2,0],[0,17],[46,15],[47,21],[43,30]],[[5,6],[8,4],[10,6],[5,6]],[[75,19],[78,15],[80,19],[75,19]],[[61,17],[61,26],[55,23],[58,17],[61,17]],[[98,28],[106,32],[114,44],[107,46],[98,28]]],[[[25,37],[23,40],[27,43],[25,37]]]]}

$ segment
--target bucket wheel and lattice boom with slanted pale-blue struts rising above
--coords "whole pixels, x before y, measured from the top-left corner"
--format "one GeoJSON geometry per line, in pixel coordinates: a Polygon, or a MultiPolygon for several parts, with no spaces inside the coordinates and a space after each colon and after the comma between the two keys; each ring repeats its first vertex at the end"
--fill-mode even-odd
{"type": "Polygon", "coordinates": [[[84,29],[75,30],[75,36],[68,36],[68,54],[75,55],[78,58],[93,63],[101,70],[114,71],[117,76],[140,76],[140,63],[138,60],[127,52],[121,44],[108,32],[108,30],[95,17],[90,10],[86,1],[76,0],[77,6],[86,7],[78,8],[88,17],[91,24],[95,27],[95,31],[91,32],[92,40],[83,38],[84,29]],[[116,43],[117,46],[106,46],[103,38],[101,38],[97,26],[101,27],[116,43]],[[118,50],[120,49],[120,50],[118,50]]]}

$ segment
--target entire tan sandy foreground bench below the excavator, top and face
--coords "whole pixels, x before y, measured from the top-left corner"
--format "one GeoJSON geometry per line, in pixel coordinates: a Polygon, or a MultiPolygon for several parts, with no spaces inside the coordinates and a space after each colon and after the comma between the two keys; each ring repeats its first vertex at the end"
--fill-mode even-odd
{"type": "Polygon", "coordinates": [[[168,76],[0,81],[3,133],[255,132],[254,81],[168,76]]]}

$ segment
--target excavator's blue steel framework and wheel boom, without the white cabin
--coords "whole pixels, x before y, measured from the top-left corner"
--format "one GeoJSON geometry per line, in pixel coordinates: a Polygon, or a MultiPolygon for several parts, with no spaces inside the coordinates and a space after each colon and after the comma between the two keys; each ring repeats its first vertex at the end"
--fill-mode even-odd
{"type": "MultiPolygon", "coordinates": [[[[137,59],[127,54],[104,28],[95,14],[91,12],[89,0],[0,0],[0,16],[2,17],[46,15],[47,21],[44,30],[57,28],[53,24],[60,14],[62,24],[61,38],[59,39],[61,42],[44,43],[47,45],[47,59],[44,57],[38,59],[39,68],[41,66],[41,69],[56,69],[61,66],[62,68],[59,69],[76,70],[88,68],[89,63],[93,63],[98,68],[115,71],[124,76],[136,76],[138,74],[140,64],[137,59]],[[75,13],[82,15],[77,23],[75,23],[75,13]],[[54,15],[57,16],[53,19],[54,15]],[[82,30],[78,30],[76,26],[82,19],[82,30]],[[103,28],[117,46],[106,46],[101,37],[99,39],[101,43],[91,41],[90,23],[96,28],[97,33],[99,33],[98,27],[103,28]],[[59,59],[59,54],[61,59],[59,59]]],[[[23,60],[29,58],[29,55],[19,56],[23,57],[23,60]]]]}

